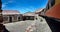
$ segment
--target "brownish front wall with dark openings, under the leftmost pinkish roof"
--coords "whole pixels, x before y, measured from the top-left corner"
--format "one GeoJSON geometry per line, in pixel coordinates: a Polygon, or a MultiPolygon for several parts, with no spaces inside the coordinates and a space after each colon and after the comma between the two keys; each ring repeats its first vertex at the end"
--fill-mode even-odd
{"type": "Polygon", "coordinates": [[[22,20],[22,15],[20,15],[20,14],[19,15],[3,15],[3,20],[4,20],[4,23],[17,22],[19,20],[21,21],[22,20]],[[7,19],[4,18],[4,17],[6,17],[7,19]],[[18,17],[20,17],[20,19],[18,19],[18,17]]]}

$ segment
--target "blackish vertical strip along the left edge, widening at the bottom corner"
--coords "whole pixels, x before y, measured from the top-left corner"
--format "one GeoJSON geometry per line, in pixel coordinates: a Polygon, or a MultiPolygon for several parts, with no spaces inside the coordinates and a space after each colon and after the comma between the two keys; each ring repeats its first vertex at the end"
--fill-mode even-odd
{"type": "Polygon", "coordinates": [[[0,0],[0,32],[9,32],[5,25],[3,25],[3,15],[2,15],[2,1],[0,0]]]}

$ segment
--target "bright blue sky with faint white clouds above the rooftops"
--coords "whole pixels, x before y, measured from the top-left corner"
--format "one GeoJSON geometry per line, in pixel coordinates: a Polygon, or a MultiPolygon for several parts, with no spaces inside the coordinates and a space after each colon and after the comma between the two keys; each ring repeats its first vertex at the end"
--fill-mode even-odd
{"type": "Polygon", "coordinates": [[[34,12],[45,8],[48,0],[2,0],[3,10],[18,10],[20,13],[34,12]]]}

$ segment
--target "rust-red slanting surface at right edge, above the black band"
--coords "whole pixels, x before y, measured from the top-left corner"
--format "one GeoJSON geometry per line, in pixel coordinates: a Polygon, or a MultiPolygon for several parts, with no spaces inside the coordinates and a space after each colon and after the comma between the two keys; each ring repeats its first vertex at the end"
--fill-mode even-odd
{"type": "Polygon", "coordinates": [[[49,9],[46,13],[48,17],[54,17],[60,19],[60,4],[54,5],[51,9],[49,9]]]}

